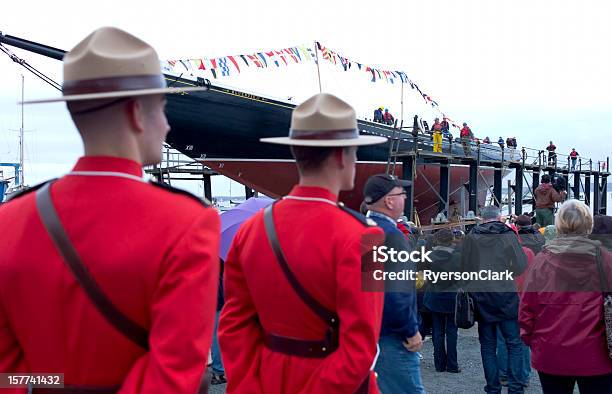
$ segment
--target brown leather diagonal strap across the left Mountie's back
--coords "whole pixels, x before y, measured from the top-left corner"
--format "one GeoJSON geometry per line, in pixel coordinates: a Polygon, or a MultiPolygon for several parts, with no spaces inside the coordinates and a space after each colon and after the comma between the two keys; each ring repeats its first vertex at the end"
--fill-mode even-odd
{"type": "Polygon", "coordinates": [[[126,338],[141,348],[149,350],[148,331],[124,315],[106,297],[87,267],[81,261],[53,206],[50,193],[51,185],[52,183],[47,183],[36,191],[36,208],[49,237],[51,237],[55,247],[62,256],[62,260],[64,260],[70,272],[72,272],[79,285],[81,285],[90,301],[102,316],[126,338]]]}

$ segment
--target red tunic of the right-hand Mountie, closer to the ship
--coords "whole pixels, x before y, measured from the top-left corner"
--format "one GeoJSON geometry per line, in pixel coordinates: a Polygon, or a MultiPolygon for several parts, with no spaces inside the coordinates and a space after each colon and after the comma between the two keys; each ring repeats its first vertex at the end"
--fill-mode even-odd
{"type": "MultiPolygon", "coordinates": [[[[339,347],[302,358],[263,344],[264,328],[321,340],[327,326],[285,278],[259,212],[238,230],[225,264],[219,343],[227,392],[354,393],[375,361],[383,306],[383,293],[361,290],[361,255],[382,241],[382,230],[342,211],[326,189],[296,186],[289,196],[274,206],[279,242],[306,291],[339,316],[339,347]],[[304,197],[321,200],[296,199],[304,197]]],[[[377,392],[371,372],[370,392],[377,392]]]]}

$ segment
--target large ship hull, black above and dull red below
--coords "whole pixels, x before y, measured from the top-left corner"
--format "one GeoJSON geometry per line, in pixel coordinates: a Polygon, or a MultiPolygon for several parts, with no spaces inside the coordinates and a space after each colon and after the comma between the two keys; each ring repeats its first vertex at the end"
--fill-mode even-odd
{"type": "MultiPolygon", "coordinates": [[[[175,84],[180,86],[181,82],[190,84],[184,80],[175,84]]],[[[260,138],[286,136],[294,107],[291,103],[219,86],[203,92],[169,95],[167,115],[171,131],[167,142],[222,175],[260,193],[280,197],[297,183],[295,163],[287,146],[265,144],[260,138]]],[[[358,127],[365,135],[392,137],[398,133],[392,127],[366,120],[358,120],[358,127]]],[[[413,149],[410,134],[401,133],[400,137],[402,149],[413,149]]],[[[431,143],[419,142],[418,148],[431,150],[431,143]]],[[[459,144],[449,146],[445,141],[443,149],[462,154],[459,144]]],[[[340,199],[358,209],[365,181],[371,175],[386,172],[389,152],[389,143],[360,147],[355,188],[341,193],[340,199]]],[[[398,162],[395,173],[400,175],[401,171],[398,162]]],[[[484,169],[482,173],[486,182],[479,182],[481,204],[486,197],[486,184],[492,184],[493,178],[491,170],[484,169]]],[[[439,187],[439,179],[437,165],[417,161],[414,206],[424,222],[439,212],[437,190],[434,191],[439,187]]],[[[450,199],[457,203],[467,201],[461,193],[466,192],[462,185],[469,179],[468,168],[454,166],[450,179],[450,199]]]]}

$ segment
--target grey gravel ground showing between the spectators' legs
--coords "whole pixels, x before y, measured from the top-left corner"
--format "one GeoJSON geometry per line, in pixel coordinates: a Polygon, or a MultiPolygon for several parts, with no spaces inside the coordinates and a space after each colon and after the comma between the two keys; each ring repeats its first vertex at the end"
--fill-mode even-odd
{"type": "MultiPolygon", "coordinates": [[[[485,379],[476,326],[469,330],[459,330],[457,353],[461,373],[436,372],[433,363],[433,344],[431,339],[425,342],[421,352],[424,357],[421,361],[421,376],[427,393],[484,393],[485,379]]],[[[225,385],[210,386],[210,392],[225,393],[225,385]]],[[[503,392],[507,392],[507,389],[504,388],[503,392]]],[[[540,380],[537,373],[533,371],[529,387],[525,390],[525,393],[541,392],[540,380]]]]}

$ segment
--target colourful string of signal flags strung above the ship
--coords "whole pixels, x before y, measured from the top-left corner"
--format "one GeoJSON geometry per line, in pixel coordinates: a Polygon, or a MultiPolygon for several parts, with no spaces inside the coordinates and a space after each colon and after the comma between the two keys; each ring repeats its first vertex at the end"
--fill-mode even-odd
{"type": "Polygon", "coordinates": [[[198,59],[174,59],[161,62],[162,70],[173,74],[187,74],[191,76],[203,76],[210,74],[214,79],[240,74],[245,69],[263,70],[268,68],[288,67],[294,64],[306,62],[317,63],[317,53],[320,52],[322,61],[339,66],[344,71],[355,70],[368,74],[371,82],[386,81],[387,83],[407,84],[431,105],[450,123],[453,127],[459,128],[455,122],[449,119],[439,109],[438,102],[424,93],[419,85],[412,81],[404,71],[383,70],[356,62],[339,53],[325,47],[320,42],[315,41],[315,47],[298,45],[289,48],[275,49],[262,52],[254,52],[243,55],[228,55],[215,58],[198,59]]]}

